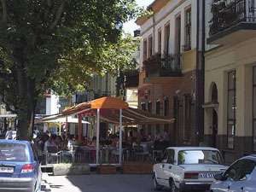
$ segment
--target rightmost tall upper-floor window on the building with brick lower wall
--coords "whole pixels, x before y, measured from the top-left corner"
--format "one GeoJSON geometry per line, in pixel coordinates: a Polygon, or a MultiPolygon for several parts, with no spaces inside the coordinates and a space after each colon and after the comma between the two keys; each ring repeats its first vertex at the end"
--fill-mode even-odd
{"type": "Polygon", "coordinates": [[[184,50],[191,49],[191,8],[185,11],[185,44],[184,50]]]}

